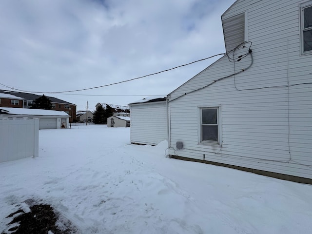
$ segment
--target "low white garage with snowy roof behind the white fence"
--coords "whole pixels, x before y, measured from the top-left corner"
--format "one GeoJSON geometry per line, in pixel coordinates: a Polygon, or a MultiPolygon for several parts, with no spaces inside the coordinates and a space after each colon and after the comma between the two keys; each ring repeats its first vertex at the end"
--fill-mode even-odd
{"type": "Polygon", "coordinates": [[[63,111],[0,107],[0,119],[39,118],[39,129],[68,128],[69,117],[63,111]]]}

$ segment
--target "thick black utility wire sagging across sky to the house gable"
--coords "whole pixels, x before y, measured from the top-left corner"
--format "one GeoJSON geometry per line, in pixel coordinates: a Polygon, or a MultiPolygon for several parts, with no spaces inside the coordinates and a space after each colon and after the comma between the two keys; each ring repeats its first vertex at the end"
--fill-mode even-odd
{"type": "Polygon", "coordinates": [[[18,90],[18,91],[21,91],[21,92],[29,92],[29,93],[61,94],[61,93],[78,92],[78,91],[84,91],[84,90],[90,90],[90,89],[97,89],[97,88],[107,87],[107,86],[111,86],[111,85],[115,85],[115,84],[129,82],[129,81],[136,80],[136,79],[141,79],[141,78],[145,78],[145,77],[149,77],[149,76],[154,76],[156,74],[160,74],[160,73],[163,73],[163,72],[168,72],[168,71],[174,70],[174,69],[179,68],[179,67],[188,66],[188,65],[193,64],[195,62],[203,61],[203,60],[206,60],[206,59],[211,59],[211,58],[214,58],[214,57],[219,56],[219,55],[226,55],[226,53],[213,55],[213,56],[205,58],[205,59],[199,59],[199,60],[196,60],[196,61],[193,61],[193,62],[190,62],[190,63],[186,63],[186,64],[183,64],[183,65],[180,65],[180,66],[176,66],[176,67],[173,67],[173,68],[170,68],[170,69],[166,69],[166,70],[163,70],[163,71],[160,71],[160,72],[156,72],[156,73],[152,73],[152,74],[149,74],[149,75],[145,75],[145,76],[142,76],[142,77],[127,79],[127,80],[119,81],[119,82],[116,82],[116,83],[105,84],[105,85],[91,87],[91,88],[85,88],[85,89],[76,89],[76,90],[59,91],[59,92],[38,92],[38,91],[26,91],[26,90],[21,90],[21,89],[15,89],[14,87],[8,87],[8,86],[6,86],[4,84],[1,84],[1,83],[0,84],[5,86],[5,87],[7,87],[7,88],[13,89],[13,90],[18,90]]]}

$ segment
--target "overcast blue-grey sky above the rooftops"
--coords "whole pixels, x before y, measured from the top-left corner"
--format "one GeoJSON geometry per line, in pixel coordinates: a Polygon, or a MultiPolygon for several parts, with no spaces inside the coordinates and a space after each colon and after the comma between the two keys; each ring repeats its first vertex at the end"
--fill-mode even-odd
{"type": "Polygon", "coordinates": [[[221,15],[235,0],[0,0],[0,89],[127,105],[167,95],[224,53],[221,15]],[[141,95],[141,96],[139,96],[141,95]]]}

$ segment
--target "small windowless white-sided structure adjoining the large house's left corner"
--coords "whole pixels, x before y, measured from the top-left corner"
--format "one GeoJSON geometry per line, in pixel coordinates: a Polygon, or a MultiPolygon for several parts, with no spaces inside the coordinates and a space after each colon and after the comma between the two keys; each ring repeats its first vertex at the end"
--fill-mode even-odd
{"type": "Polygon", "coordinates": [[[165,97],[149,97],[129,104],[131,143],[156,145],[168,138],[165,97]]]}

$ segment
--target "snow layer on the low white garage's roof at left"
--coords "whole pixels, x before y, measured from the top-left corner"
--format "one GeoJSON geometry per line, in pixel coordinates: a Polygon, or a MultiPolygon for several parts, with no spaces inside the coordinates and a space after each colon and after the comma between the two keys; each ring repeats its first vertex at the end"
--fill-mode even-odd
{"type": "Polygon", "coordinates": [[[6,115],[27,115],[27,116],[69,116],[64,111],[52,111],[52,110],[41,110],[41,109],[27,109],[27,108],[12,108],[12,107],[1,107],[0,113],[6,115]]]}

